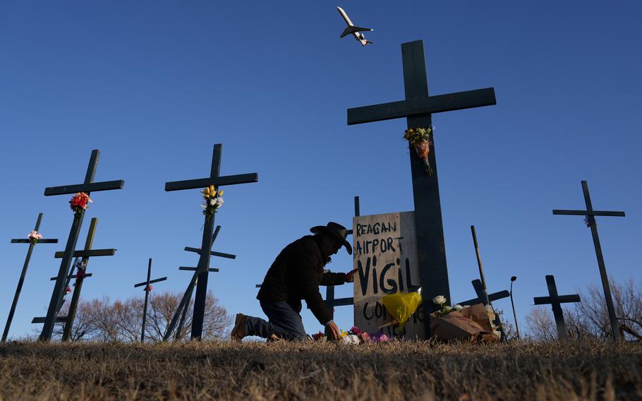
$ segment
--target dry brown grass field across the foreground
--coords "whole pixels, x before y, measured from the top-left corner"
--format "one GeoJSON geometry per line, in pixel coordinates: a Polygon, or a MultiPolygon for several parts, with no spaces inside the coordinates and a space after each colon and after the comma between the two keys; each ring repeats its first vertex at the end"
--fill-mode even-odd
{"type": "Polygon", "coordinates": [[[642,345],[0,345],[0,400],[642,400],[642,345]]]}

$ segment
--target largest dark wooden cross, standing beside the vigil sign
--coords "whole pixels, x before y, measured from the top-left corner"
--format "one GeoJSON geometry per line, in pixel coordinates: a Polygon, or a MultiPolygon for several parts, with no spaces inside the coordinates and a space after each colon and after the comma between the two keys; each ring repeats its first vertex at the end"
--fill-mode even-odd
{"type": "MultiPolygon", "coordinates": [[[[421,40],[401,44],[401,57],[404,63],[406,99],[399,102],[348,109],[348,125],[405,117],[408,128],[428,128],[432,124],[432,113],[496,104],[493,88],[447,95],[428,95],[428,79],[426,78],[423,41],[421,40]]],[[[401,136],[401,132],[399,136],[401,136]]],[[[450,299],[434,137],[428,160],[433,170],[431,175],[426,173],[423,160],[420,160],[416,152],[411,150],[410,164],[415,203],[417,251],[421,287],[423,294],[425,294],[423,297],[424,311],[432,309],[430,300],[437,295],[443,295],[450,299]]],[[[430,333],[429,319],[425,320],[425,328],[428,335],[430,333]]]]}

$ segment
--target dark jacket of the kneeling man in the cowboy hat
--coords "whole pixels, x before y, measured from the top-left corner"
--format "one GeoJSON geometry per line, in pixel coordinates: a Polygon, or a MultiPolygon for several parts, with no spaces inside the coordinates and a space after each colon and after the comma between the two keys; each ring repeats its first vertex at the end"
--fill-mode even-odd
{"type": "Polygon", "coordinates": [[[346,282],[345,273],[323,273],[329,259],[322,249],[320,236],[306,235],[286,246],[267,270],[263,284],[256,297],[264,302],[285,301],[296,312],[301,312],[301,300],[325,324],[332,320],[319,292],[319,285],[341,285],[346,282]]]}

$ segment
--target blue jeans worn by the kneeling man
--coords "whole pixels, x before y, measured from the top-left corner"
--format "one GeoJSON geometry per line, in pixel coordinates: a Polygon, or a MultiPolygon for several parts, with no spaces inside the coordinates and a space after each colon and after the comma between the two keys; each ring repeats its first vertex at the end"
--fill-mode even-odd
{"type": "Polygon", "coordinates": [[[261,309],[269,319],[269,322],[262,318],[248,316],[246,319],[247,335],[269,338],[277,335],[284,340],[307,340],[303,321],[287,302],[263,302],[261,309]]]}

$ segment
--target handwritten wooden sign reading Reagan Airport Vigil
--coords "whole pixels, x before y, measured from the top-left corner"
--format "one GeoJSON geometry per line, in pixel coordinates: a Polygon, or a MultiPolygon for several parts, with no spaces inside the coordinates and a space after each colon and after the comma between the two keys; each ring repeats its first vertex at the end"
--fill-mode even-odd
{"type": "MultiPolygon", "coordinates": [[[[381,299],[420,287],[414,212],[356,216],[352,220],[354,268],[354,323],[363,331],[394,334],[381,299]]],[[[423,308],[406,323],[406,338],[425,338],[423,308]]]]}

